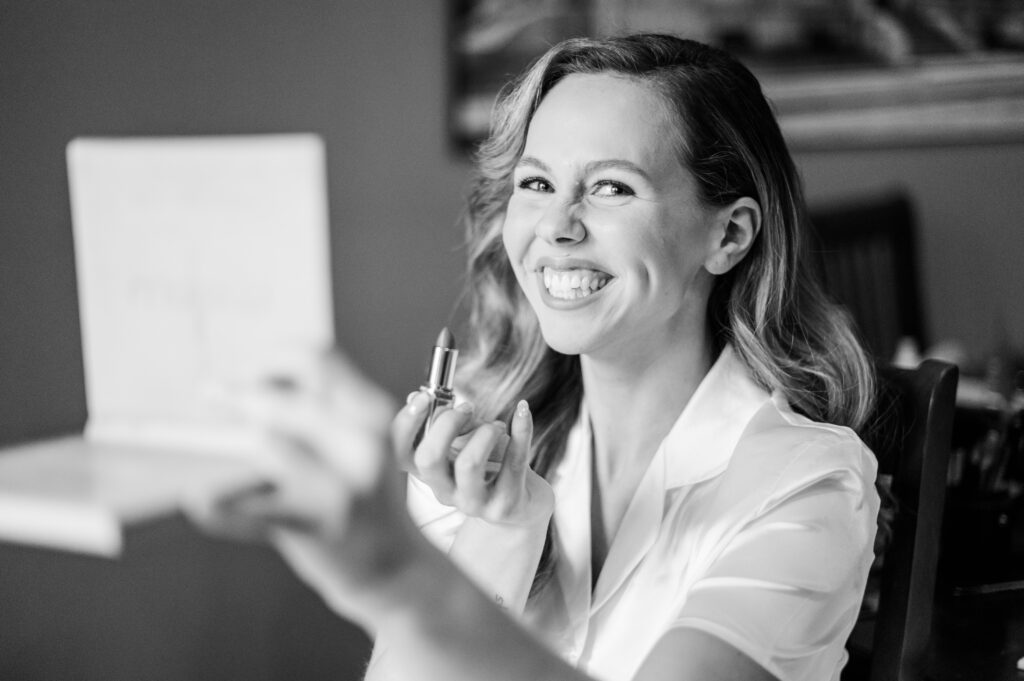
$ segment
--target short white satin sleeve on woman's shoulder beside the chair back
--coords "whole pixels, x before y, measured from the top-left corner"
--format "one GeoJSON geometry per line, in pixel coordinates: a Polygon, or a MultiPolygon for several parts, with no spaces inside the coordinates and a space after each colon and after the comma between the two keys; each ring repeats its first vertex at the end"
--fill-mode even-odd
{"type": "Polygon", "coordinates": [[[710,563],[677,627],[725,640],[785,681],[829,679],[863,598],[879,509],[874,460],[806,452],[710,563]],[[819,455],[819,456],[816,456],[819,455]]]}

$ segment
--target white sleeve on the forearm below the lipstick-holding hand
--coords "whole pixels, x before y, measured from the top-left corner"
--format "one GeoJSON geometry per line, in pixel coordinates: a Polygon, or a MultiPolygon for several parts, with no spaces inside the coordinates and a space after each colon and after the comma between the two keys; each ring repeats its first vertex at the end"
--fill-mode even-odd
{"type": "Polygon", "coordinates": [[[502,609],[521,615],[547,538],[549,518],[527,525],[467,517],[409,476],[410,515],[420,530],[502,609]]]}

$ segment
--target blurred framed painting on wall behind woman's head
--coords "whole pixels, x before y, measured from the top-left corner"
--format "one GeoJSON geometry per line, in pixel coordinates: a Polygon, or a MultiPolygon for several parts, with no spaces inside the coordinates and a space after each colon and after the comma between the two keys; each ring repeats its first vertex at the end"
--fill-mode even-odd
{"type": "Polygon", "coordinates": [[[452,0],[449,137],[570,37],[666,32],[759,77],[794,151],[1024,140],[1024,0],[452,0]],[[895,11],[893,6],[902,9],[895,11]]]}

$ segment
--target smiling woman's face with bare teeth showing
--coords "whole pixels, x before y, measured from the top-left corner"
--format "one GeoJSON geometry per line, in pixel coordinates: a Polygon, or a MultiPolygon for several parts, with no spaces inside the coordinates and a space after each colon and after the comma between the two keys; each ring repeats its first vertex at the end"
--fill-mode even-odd
{"type": "Polygon", "coordinates": [[[656,356],[703,338],[712,212],[676,154],[671,116],[635,80],[575,74],[530,122],[503,235],[559,352],[656,356]]]}

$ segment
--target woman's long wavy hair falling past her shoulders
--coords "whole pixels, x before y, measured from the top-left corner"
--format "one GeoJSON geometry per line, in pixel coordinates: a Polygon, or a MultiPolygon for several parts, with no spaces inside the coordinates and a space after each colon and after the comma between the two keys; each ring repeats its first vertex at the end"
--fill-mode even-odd
{"type": "MultiPolygon", "coordinates": [[[[716,278],[708,306],[715,343],[731,343],[754,379],[797,411],[859,429],[872,407],[873,366],[809,262],[800,177],[760,84],[720,49],[658,34],[564,41],[499,96],[465,215],[469,342],[459,384],[478,415],[503,418],[527,399],[531,465],[544,476],[560,461],[579,415],[580,359],[545,344],[506,256],[502,225],[513,169],[542,99],[568,75],[596,73],[635,79],[669,103],[681,132],[677,153],[707,206],[750,197],[761,207],[761,230],[746,257],[716,278]]],[[[535,593],[554,564],[552,531],[535,593]]]]}

